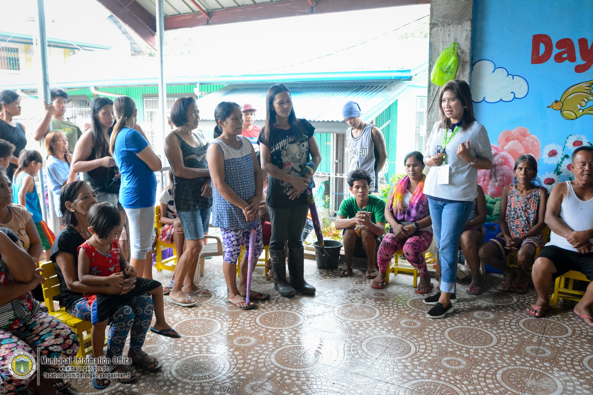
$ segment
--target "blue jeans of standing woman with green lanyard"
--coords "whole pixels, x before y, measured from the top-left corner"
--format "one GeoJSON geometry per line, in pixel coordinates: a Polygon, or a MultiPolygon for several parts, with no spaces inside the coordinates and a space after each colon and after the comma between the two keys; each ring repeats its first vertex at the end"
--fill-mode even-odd
{"type": "Polygon", "coordinates": [[[435,232],[441,262],[441,291],[455,292],[457,254],[461,233],[471,214],[473,201],[448,202],[428,199],[432,230],[435,232]]]}

